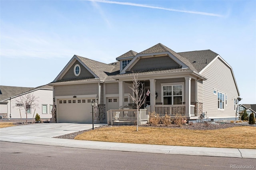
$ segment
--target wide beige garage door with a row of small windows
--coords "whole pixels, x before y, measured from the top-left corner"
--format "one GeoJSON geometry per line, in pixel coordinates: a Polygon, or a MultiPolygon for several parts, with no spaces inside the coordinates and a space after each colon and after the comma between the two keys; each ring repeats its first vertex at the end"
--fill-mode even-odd
{"type": "Polygon", "coordinates": [[[59,123],[92,123],[92,99],[58,99],[59,123]]]}

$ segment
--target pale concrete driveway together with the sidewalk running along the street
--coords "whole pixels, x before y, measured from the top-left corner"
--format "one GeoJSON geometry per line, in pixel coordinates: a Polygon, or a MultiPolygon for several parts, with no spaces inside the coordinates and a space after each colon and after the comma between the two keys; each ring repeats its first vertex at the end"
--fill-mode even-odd
{"type": "MultiPolygon", "coordinates": [[[[104,125],[104,124],[102,124],[104,125]]],[[[94,127],[102,126],[100,124],[94,127]]],[[[129,144],[117,142],[98,142],[52,138],[80,130],[92,128],[91,124],[44,123],[0,128],[0,140],[26,144],[40,144],[72,148],[119,150],[129,152],[147,152],[160,154],[184,154],[197,156],[224,156],[237,158],[256,158],[256,149],[207,148],[191,146],[167,146],[152,144],[129,144]]]]}

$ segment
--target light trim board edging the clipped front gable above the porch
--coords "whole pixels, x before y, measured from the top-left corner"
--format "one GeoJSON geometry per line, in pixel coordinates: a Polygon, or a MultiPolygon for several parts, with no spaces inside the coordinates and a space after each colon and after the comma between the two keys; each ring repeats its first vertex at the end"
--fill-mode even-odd
{"type": "Polygon", "coordinates": [[[180,61],[177,57],[172,55],[169,51],[164,51],[164,52],[159,52],[159,53],[146,53],[146,54],[137,54],[132,61],[126,67],[120,72],[120,74],[124,74],[127,69],[133,67],[136,64],[136,61],[138,61],[140,58],[150,58],[150,57],[157,57],[156,55],[159,56],[164,56],[164,54],[169,55],[171,59],[173,59],[176,63],[182,66],[182,68],[188,68],[186,64],[184,64],[182,61],[180,61]]]}

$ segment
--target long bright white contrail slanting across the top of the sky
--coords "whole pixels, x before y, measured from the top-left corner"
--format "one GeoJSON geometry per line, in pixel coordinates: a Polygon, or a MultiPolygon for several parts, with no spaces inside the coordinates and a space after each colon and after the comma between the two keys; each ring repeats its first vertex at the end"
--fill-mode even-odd
{"type": "Polygon", "coordinates": [[[158,7],[158,6],[134,4],[134,3],[130,3],[130,2],[117,2],[117,1],[110,1],[110,0],[85,0],[85,1],[101,2],[101,3],[106,3],[106,4],[119,4],[119,5],[128,5],[128,6],[139,6],[139,7],[143,7],[143,8],[154,8],[154,9],[174,11],[174,12],[184,12],[184,13],[190,13],[190,14],[199,14],[199,15],[222,17],[222,15],[213,14],[213,13],[207,13],[207,12],[197,12],[197,11],[188,11],[188,10],[176,10],[176,9],[171,9],[171,8],[162,8],[162,7],[158,7]]]}

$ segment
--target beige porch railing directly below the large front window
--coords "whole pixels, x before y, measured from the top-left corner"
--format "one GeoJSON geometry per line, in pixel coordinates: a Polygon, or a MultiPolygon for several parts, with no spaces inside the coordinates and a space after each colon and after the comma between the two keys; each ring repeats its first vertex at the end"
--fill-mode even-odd
{"type": "Polygon", "coordinates": [[[156,105],[155,112],[159,116],[164,115],[185,115],[185,105],[156,105]]]}

